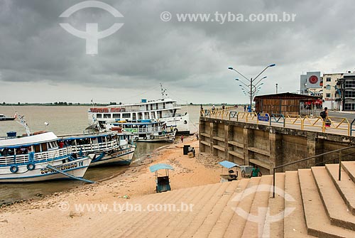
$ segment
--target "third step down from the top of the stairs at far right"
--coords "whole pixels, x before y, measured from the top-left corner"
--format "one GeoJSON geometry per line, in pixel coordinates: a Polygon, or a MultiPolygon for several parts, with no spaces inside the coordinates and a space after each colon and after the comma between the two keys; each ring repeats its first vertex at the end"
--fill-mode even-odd
{"type": "Polygon", "coordinates": [[[312,167],[312,173],[330,223],[338,227],[355,230],[355,217],[347,209],[327,169],[312,167]]]}

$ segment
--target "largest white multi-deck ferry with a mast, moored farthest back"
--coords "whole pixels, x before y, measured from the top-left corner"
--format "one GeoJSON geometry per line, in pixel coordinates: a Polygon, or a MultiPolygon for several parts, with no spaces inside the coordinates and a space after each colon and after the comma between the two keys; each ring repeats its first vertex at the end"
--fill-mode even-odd
{"type": "Polygon", "coordinates": [[[176,101],[165,97],[162,88],[162,99],[147,101],[142,99],[136,104],[119,104],[107,107],[92,107],[88,112],[89,124],[95,120],[101,125],[116,121],[138,122],[141,120],[165,121],[168,128],[173,127],[177,134],[190,134],[189,114],[179,114],[181,109],[176,101]]]}

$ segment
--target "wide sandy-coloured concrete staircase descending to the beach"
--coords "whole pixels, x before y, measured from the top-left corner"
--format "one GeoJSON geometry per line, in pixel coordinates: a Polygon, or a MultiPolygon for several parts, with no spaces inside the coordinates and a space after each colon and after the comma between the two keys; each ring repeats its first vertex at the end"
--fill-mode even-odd
{"type": "Polygon", "coordinates": [[[70,237],[355,237],[355,162],[338,173],[337,164],[277,173],[275,198],[272,175],[145,195],[127,202],[177,210],[105,213],[82,224],[96,232],[70,237]]]}

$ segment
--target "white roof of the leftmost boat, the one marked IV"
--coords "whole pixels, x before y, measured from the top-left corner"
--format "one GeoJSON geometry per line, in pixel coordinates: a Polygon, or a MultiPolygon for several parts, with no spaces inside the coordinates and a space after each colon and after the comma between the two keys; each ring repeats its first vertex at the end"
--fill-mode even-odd
{"type": "Polygon", "coordinates": [[[45,143],[48,141],[57,141],[58,137],[55,136],[53,132],[45,132],[43,134],[33,135],[33,136],[23,136],[19,138],[11,138],[0,140],[0,147],[10,147],[10,146],[31,146],[34,144],[45,143]]]}

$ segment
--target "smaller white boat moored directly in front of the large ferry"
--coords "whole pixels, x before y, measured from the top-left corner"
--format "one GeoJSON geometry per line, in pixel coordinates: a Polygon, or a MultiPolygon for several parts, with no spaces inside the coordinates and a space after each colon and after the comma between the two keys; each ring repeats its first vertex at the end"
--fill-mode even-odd
{"type": "Polygon", "coordinates": [[[165,122],[141,120],[140,122],[117,121],[106,124],[106,128],[112,131],[124,131],[133,134],[134,141],[144,142],[174,142],[175,132],[173,128],[167,130],[165,122]]]}

